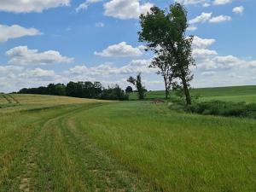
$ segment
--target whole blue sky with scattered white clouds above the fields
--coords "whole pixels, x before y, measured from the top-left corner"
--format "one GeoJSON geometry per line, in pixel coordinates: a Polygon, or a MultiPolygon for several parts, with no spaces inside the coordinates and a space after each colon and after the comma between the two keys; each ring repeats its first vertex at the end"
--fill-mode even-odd
{"type": "MultiPolygon", "coordinates": [[[[195,36],[192,87],[256,84],[256,1],[177,0],[195,36]]],[[[172,0],[1,0],[0,92],[69,81],[129,85],[142,73],[163,90],[153,53],[138,42],[139,15],[172,0]]]]}

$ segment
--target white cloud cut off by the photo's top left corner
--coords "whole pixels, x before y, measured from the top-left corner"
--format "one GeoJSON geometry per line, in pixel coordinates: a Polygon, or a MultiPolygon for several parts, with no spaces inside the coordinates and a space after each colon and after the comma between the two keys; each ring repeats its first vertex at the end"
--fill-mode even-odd
{"type": "Polygon", "coordinates": [[[68,6],[70,0],[1,0],[0,10],[15,13],[42,12],[44,9],[68,6]]]}

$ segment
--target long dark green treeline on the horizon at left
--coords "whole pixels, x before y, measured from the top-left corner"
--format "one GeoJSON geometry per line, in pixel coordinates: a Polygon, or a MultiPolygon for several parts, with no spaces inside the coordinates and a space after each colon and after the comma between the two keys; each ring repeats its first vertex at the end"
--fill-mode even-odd
{"type": "Polygon", "coordinates": [[[38,88],[23,88],[20,94],[40,94],[52,96],[73,96],[79,98],[93,98],[104,100],[128,100],[128,95],[118,84],[104,88],[100,82],[69,82],[66,84],[49,84],[38,88]]]}

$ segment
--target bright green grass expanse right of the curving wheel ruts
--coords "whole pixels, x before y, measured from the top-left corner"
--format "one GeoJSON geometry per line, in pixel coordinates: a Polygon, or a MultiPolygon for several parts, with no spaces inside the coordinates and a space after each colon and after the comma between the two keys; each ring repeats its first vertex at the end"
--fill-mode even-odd
{"type": "Polygon", "coordinates": [[[75,122],[92,141],[163,191],[256,189],[255,120],[122,102],[92,108],[75,122]]]}

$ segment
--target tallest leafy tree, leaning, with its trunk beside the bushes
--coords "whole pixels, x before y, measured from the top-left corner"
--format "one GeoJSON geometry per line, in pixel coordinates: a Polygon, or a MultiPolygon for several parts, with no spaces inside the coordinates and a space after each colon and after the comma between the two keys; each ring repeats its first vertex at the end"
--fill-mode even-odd
{"type": "Polygon", "coordinates": [[[191,48],[193,37],[185,34],[189,26],[186,9],[180,3],[170,5],[166,11],[154,6],[146,15],[141,15],[140,20],[139,40],[146,42],[148,49],[156,54],[167,52],[172,55],[172,77],[181,83],[186,102],[190,105],[189,82],[193,75],[189,67],[195,65],[195,61],[191,48]]]}

